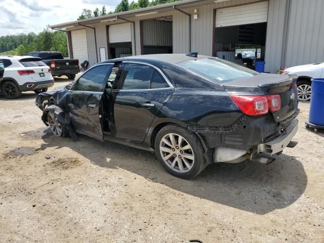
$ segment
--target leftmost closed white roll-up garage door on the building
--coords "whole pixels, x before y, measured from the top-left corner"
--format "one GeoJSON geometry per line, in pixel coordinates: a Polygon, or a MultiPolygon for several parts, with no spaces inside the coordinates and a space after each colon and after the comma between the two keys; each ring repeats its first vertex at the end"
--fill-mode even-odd
{"type": "Polygon", "coordinates": [[[71,31],[73,59],[78,59],[79,63],[88,58],[88,44],[87,44],[87,31],[86,29],[71,31]]]}

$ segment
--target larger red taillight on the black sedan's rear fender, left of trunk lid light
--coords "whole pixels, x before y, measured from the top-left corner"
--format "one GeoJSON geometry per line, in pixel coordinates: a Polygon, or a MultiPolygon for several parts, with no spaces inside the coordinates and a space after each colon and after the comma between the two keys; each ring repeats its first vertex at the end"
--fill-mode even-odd
{"type": "Polygon", "coordinates": [[[268,113],[267,96],[231,95],[237,107],[247,115],[263,115],[268,113]]]}

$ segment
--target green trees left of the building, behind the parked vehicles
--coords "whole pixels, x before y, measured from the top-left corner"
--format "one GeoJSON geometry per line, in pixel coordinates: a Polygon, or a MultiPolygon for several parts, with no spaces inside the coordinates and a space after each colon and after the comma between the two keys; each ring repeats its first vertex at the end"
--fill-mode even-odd
{"type": "Polygon", "coordinates": [[[38,35],[31,32],[0,37],[1,55],[23,56],[36,51],[57,51],[61,52],[64,57],[67,57],[65,32],[52,31],[47,27],[38,35]]]}

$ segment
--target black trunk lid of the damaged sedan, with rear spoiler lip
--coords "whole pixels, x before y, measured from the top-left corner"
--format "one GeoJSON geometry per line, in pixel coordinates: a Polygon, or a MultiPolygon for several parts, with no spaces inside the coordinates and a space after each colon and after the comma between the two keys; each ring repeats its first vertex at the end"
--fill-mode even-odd
{"type": "Polygon", "coordinates": [[[276,122],[293,115],[298,108],[297,76],[260,73],[252,77],[236,78],[222,85],[230,95],[275,95],[281,99],[281,108],[271,112],[276,122]]]}

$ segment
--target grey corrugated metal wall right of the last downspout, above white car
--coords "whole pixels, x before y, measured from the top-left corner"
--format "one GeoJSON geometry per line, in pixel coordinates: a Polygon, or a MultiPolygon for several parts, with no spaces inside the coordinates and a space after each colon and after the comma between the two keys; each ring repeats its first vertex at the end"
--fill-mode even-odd
{"type": "Polygon", "coordinates": [[[324,61],[324,1],[292,0],[287,67],[324,61]]]}

